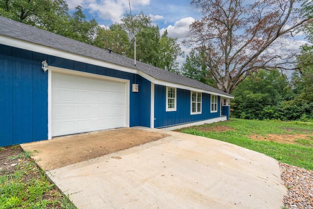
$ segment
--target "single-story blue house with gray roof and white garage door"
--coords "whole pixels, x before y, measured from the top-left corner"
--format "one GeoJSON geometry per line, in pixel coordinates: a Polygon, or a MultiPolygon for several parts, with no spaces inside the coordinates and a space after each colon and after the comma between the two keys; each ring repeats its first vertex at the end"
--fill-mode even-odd
{"type": "Polygon", "coordinates": [[[0,146],[120,127],[228,119],[232,95],[0,17],[0,146]]]}

